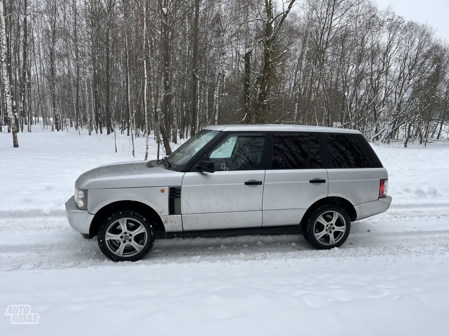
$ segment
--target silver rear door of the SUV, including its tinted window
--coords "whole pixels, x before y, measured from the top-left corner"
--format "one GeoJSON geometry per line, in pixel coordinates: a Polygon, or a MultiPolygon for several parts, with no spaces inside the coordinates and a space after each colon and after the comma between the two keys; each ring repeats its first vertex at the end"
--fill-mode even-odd
{"type": "Polygon", "coordinates": [[[272,133],[265,172],[262,226],[299,224],[327,196],[327,171],[315,133],[272,133]]]}

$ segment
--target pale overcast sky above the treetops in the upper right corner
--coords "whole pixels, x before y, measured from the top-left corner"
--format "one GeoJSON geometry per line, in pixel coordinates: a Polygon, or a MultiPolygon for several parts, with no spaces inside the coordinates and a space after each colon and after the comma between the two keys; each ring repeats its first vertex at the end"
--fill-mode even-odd
{"type": "Polygon", "coordinates": [[[389,4],[396,14],[407,20],[428,22],[449,41],[449,0],[377,0],[381,8],[389,4]]]}

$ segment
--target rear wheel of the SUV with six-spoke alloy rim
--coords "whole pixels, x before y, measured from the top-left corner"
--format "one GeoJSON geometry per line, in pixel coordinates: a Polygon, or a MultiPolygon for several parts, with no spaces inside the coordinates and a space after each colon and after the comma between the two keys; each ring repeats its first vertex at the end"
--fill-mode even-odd
{"type": "Polygon", "coordinates": [[[324,205],[310,215],[303,236],[313,247],[329,250],[341,246],[348,238],[351,220],[342,207],[324,205]]]}

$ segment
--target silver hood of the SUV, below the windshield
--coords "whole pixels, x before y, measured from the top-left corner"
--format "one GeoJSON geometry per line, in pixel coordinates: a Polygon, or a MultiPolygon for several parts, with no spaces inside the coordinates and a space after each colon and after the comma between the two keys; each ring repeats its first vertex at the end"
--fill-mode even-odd
{"type": "Polygon", "coordinates": [[[155,162],[147,166],[147,163],[132,161],[99,166],[81,174],[75,186],[86,190],[181,185],[184,172],[168,170],[155,162]]]}

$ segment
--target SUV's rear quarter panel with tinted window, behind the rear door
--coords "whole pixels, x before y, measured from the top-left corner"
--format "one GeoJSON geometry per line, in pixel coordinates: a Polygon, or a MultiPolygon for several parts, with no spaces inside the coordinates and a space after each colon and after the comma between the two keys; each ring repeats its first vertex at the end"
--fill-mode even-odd
{"type": "Polygon", "coordinates": [[[360,137],[323,134],[329,196],[346,198],[353,205],[377,200],[380,180],[387,178],[386,169],[369,155],[360,137]]]}

